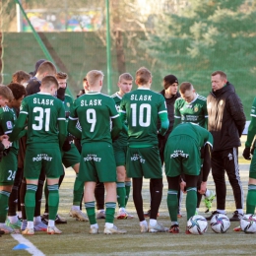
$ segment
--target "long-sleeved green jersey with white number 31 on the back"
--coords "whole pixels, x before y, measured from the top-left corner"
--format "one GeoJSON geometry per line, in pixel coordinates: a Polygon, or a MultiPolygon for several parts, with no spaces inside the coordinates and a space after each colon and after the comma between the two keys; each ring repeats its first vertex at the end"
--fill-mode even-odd
{"type": "Polygon", "coordinates": [[[66,137],[66,118],[64,106],[60,99],[46,93],[25,97],[12,139],[17,136],[19,129],[25,126],[27,117],[27,145],[45,143],[60,143],[62,145],[63,138],[66,137]]]}

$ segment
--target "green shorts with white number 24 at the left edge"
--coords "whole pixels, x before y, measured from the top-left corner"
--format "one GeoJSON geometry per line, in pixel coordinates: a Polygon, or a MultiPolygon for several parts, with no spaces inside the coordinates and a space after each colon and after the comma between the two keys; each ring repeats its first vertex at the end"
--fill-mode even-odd
{"type": "Polygon", "coordinates": [[[16,171],[18,168],[17,150],[11,148],[8,155],[0,161],[0,186],[14,184],[16,171]]]}

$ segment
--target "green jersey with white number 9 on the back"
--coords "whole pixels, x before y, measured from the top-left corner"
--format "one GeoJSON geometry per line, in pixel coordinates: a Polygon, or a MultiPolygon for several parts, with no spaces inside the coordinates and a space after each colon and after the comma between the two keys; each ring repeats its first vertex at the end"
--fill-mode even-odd
{"type": "MultiPolygon", "coordinates": [[[[85,142],[112,143],[110,119],[116,118],[119,118],[119,114],[113,98],[91,92],[74,101],[73,110],[69,117],[71,120],[69,127],[74,128],[72,121],[77,122],[79,120],[82,129],[82,144],[85,142]]],[[[71,129],[69,131],[74,134],[71,129]]],[[[76,136],[76,134],[74,135],[76,136]]]]}

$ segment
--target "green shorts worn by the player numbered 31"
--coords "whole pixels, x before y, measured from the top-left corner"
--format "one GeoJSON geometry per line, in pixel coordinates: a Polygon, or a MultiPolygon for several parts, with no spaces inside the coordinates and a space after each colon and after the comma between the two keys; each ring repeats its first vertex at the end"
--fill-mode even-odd
{"type": "Polygon", "coordinates": [[[28,179],[38,179],[41,169],[48,178],[58,178],[63,174],[58,144],[27,145],[24,176],[28,179]]]}

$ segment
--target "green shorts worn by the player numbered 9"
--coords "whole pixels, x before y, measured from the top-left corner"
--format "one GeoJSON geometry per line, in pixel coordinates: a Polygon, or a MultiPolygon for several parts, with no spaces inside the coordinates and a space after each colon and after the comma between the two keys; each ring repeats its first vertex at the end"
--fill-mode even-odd
{"type": "Polygon", "coordinates": [[[84,143],[78,178],[83,182],[116,182],[116,166],[112,144],[84,143]]]}

